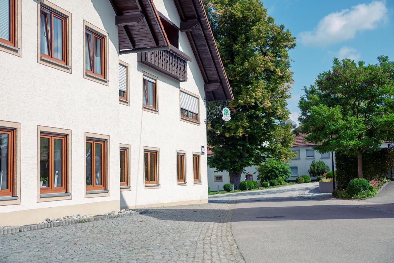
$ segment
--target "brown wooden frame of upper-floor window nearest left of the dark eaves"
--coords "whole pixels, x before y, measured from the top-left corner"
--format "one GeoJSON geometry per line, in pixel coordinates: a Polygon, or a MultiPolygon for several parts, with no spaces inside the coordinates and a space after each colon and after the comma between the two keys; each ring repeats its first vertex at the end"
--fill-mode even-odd
{"type": "MultiPolygon", "coordinates": [[[[85,68],[85,72],[89,73],[91,75],[97,76],[99,78],[104,78],[105,79],[106,78],[106,71],[107,71],[107,69],[106,69],[106,56],[107,56],[106,55],[106,37],[101,35],[101,34],[99,34],[99,33],[97,33],[96,31],[94,31],[94,30],[92,30],[92,29],[90,29],[88,27],[85,27],[85,37],[87,35],[89,35],[87,32],[89,32],[90,34],[93,35],[93,37],[92,37],[93,43],[90,43],[90,38],[87,37],[87,45],[88,45],[87,49],[89,50],[89,63],[90,63],[90,68],[92,70],[88,70],[88,69],[85,68]],[[94,68],[94,53],[95,53],[95,45],[94,45],[94,43],[95,43],[95,38],[100,39],[100,41],[101,41],[101,74],[98,74],[98,73],[94,72],[95,71],[95,68],[94,68]],[[93,50],[93,54],[91,54],[91,52],[90,52],[91,45],[93,45],[93,49],[92,49],[93,50]]],[[[84,41],[85,41],[85,39],[84,39],[84,41]]],[[[86,47],[85,47],[84,52],[86,52],[86,47]]],[[[86,54],[84,54],[84,56],[86,56],[86,54]]]]}

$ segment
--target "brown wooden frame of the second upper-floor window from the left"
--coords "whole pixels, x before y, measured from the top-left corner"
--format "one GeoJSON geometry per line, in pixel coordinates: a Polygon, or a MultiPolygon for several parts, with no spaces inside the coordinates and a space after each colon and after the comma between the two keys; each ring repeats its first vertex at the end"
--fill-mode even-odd
{"type": "MultiPolygon", "coordinates": [[[[41,14],[46,14],[45,11],[50,13],[50,19],[51,19],[51,25],[52,26],[51,26],[51,32],[50,32],[50,42],[49,42],[48,37],[46,37],[46,43],[48,45],[49,55],[46,55],[46,54],[43,54],[43,53],[40,52],[41,56],[43,58],[48,59],[48,60],[52,60],[54,62],[58,62],[58,63],[61,63],[63,65],[68,65],[68,54],[67,54],[67,51],[68,51],[68,47],[67,47],[67,43],[68,43],[68,35],[67,35],[68,18],[67,18],[66,15],[61,14],[59,11],[55,11],[55,10],[53,10],[53,9],[51,9],[49,7],[43,6],[41,4],[40,15],[41,14]],[[62,25],[63,25],[62,26],[62,30],[63,30],[63,34],[62,34],[62,50],[63,50],[62,56],[63,56],[63,60],[59,60],[59,59],[53,57],[53,49],[54,49],[54,46],[53,46],[53,35],[54,35],[53,34],[54,33],[53,32],[53,30],[54,30],[53,18],[54,17],[60,19],[62,21],[62,25]]],[[[48,20],[47,20],[47,16],[46,15],[45,15],[45,20],[46,20],[45,28],[46,28],[46,32],[48,32],[48,20]]],[[[40,27],[39,30],[41,30],[41,27],[40,27]]]]}

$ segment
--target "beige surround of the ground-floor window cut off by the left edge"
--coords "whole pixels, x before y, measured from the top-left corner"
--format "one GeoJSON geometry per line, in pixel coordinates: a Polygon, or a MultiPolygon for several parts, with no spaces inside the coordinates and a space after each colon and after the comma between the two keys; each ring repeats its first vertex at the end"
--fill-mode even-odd
{"type": "Polygon", "coordinates": [[[0,206],[2,205],[20,205],[20,148],[21,148],[21,124],[12,121],[0,120],[0,126],[15,129],[15,182],[14,182],[14,195],[10,198],[0,199],[0,206]]]}

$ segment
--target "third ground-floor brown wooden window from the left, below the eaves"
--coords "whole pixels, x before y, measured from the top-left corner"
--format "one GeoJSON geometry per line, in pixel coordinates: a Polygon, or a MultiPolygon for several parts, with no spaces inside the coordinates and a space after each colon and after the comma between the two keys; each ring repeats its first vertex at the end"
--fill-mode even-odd
{"type": "Polygon", "coordinates": [[[106,188],[106,141],[86,139],[86,190],[106,188]]]}

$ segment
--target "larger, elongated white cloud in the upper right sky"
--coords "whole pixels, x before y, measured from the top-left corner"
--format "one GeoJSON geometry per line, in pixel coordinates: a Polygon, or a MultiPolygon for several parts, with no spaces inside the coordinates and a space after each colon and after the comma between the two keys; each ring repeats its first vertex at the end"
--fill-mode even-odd
{"type": "Polygon", "coordinates": [[[350,9],[331,13],[319,21],[312,31],[300,33],[305,45],[329,45],[353,39],[357,32],[375,29],[387,21],[386,1],[359,4],[350,9]]]}

